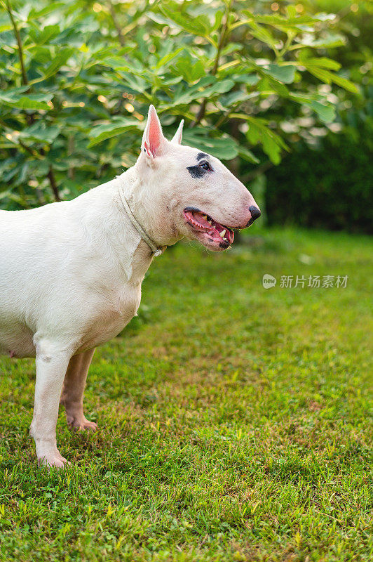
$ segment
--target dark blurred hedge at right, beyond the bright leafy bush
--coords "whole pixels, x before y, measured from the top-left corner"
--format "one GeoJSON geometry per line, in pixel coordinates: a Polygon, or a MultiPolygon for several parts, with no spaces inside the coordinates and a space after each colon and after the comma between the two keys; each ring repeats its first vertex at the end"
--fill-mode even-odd
{"type": "MultiPolygon", "coordinates": [[[[292,145],[292,154],[277,169],[267,171],[269,221],[371,233],[373,5],[360,2],[344,6],[341,0],[317,3],[323,9],[339,8],[337,16],[345,45],[335,56],[359,84],[359,96],[339,91],[336,97],[330,92],[337,119],[329,127],[318,126],[309,113],[304,115],[308,129],[302,129],[297,118],[287,122],[293,140],[299,142],[292,145]]],[[[327,86],[323,89],[326,91],[327,86]]]]}

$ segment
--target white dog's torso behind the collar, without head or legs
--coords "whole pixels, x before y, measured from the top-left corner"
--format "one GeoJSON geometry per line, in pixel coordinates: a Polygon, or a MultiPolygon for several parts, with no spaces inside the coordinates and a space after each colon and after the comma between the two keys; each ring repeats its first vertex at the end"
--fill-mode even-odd
{"type": "Polygon", "coordinates": [[[152,256],[121,209],[119,185],[0,211],[1,353],[32,357],[39,341],[56,337],[80,353],[133,318],[152,256]]]}

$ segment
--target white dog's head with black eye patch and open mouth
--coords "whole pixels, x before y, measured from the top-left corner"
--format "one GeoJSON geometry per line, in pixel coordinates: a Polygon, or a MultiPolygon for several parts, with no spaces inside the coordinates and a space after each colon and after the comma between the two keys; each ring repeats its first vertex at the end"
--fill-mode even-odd
{"type": "Polygon", "coordinates": [[[152,220],[147,226],[162,245],[186,236],[212,250],[226,249],[233,242],[233,228],[250,226],[260,216],[259,208],[219,159],[181,144],[182,126],[168,141],[154,106],[149,107],[135,164],[157,215],[156,224],[152,220]]]}

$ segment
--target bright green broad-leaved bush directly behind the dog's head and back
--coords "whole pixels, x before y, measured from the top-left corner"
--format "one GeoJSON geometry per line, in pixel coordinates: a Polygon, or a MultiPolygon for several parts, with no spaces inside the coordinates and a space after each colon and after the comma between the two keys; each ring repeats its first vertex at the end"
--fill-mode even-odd
{"type": "Polygon", "coordinates": [[[344,44],[338,18],[313,8],[254,1],[249,11],[238,0],[0,6],[6,209],[74,197],[133,164],[150,103],[168,135],[184,117],[185,143],[226,161],[277,164],[289,115],[308,107],[317,122],[334,119],[321,83],[357,91],[327,57],[344,44]]]}

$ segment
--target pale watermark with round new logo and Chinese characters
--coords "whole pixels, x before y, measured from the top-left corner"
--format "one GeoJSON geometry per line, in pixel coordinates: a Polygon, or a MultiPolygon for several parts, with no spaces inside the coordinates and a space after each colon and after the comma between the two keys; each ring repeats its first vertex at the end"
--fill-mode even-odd
{"type": "MultiPolygon", "coordinates": [[[[276,277],[265,273],[263,275],[264,289],[272,289],[276,286],[276,277]]],[[[281,275],[278,287],[280,289],[294,289],[295,287],[311,287],[312,289],[345,289],[347,287],[348,275],[281,275]]]]}

